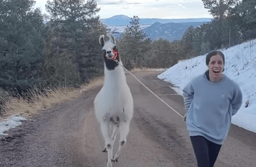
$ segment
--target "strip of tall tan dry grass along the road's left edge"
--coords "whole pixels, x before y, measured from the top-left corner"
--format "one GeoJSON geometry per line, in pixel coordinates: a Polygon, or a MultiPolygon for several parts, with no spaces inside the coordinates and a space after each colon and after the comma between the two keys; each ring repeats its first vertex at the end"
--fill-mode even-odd
{"type": "Polygon", "coordinates": [[[9,97],[7,100],[4,100],[2,105],[3,115],[0,117],[0,120],[18,113],[23,117],[29,118],[38,111],[46,110],[53,104],[74,99],[81,94],[80,92],[90,90],[100,84],[102,84],[102,80],[96,78],[87,84],[83,84],[80,88],[51,87],[40,90],[34,87],[29,90],[29,98],[9,97]]]}

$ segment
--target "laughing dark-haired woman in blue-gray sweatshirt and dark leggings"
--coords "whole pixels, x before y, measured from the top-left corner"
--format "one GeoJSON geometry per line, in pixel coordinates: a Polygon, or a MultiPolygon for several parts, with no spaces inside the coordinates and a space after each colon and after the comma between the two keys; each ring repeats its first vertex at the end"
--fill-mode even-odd
{"type": "Polygon", "coordinates": [[[242,105],[239,85],[224,71],[221,51],[206,56],[208,70],[183,89],[185,120],[198,167],[213,167],[231,125],[242,105]]]}

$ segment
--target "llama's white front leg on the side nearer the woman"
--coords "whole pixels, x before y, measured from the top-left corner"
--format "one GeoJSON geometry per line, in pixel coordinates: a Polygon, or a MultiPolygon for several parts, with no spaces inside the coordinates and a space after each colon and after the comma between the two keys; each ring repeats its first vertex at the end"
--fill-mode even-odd
{"type": "Polygon", "coordinates": [[[119,148],[118,148],[118,151],[117,151],[116,155],[113,158],[113,162],[117,162],[118,161],[118,157],[120,155],[120,150],[126,144],[126,138],[128,136],[128,133],[129,133],[129,121],[120,122],[119,131],[120,131],[119,148]]]}

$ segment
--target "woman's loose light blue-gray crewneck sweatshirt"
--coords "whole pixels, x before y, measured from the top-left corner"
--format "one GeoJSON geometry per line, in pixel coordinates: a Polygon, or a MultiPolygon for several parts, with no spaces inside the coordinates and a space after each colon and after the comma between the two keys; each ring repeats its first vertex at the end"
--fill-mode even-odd
{"type": "Polygon", "coordinates": [[[225,75],[219,83],[212,83],[205,73],[184,87],[183,97],[190,136],[203,136],[223,144],[231,125],[231,116],[242,105],[239,85],[225,75]]]}

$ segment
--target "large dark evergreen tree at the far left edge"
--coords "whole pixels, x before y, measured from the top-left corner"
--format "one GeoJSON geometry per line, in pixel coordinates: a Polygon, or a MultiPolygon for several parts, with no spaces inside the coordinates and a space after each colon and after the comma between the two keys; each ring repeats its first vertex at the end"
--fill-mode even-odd
{"type": "Polygon", "coordinates": [[[42,81],[45,28],[33,0],[0,0],[0,87],[18,92],[42,81]]]}

